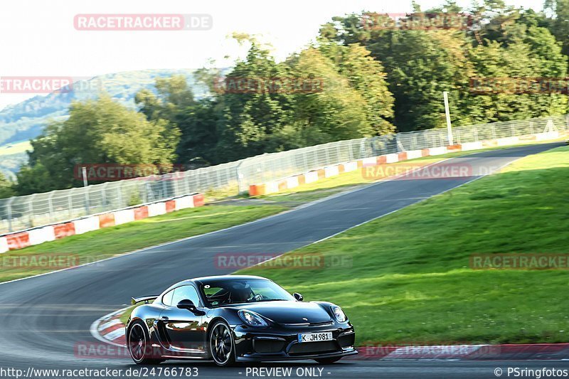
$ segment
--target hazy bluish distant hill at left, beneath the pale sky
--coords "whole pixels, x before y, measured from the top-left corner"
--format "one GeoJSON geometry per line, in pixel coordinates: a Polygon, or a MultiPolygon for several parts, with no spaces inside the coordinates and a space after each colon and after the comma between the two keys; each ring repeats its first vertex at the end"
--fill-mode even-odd
{"type": "MultiPolygon", "coordinates": [[[[197,98],[203,97],[206,94],[206,87],[196,83],[193,76],[195,71],[194,69],[142,70],[99,75],[76,82],[73,90],[38,95],[17,105],[10,105],[0,111],[0,149],[3,146],[38,137],[50,120],[68,117],[68,108],[73,100],[95,98],[100,90],[107,92],[123,105],[134,108],[134,95],[143,88],[154,90],[156,78],[185,75],[194,95],[197,98]]],[[[26,153],[10,154],[9,151],[4,151],[4,154],[0,154],[0,171],[13,176],[10,173],[18,171],[21,164],[26,163],[26,159],[26,153]]]]}

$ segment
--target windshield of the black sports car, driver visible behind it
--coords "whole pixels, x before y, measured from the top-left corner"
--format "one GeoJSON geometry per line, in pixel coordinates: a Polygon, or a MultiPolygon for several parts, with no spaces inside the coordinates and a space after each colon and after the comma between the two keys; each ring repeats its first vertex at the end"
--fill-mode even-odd
{"type": "Polygon", "coordinates": [[[211,307],[258,301],[285,301],[294,297],[267,279],[210,279],[200,290],[211,307]]]}

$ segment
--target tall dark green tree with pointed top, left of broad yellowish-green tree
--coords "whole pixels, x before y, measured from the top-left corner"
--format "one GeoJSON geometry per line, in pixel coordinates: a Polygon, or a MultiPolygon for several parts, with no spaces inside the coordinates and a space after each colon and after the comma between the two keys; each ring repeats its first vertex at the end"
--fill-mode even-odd
{"type": "Polygon", "coordinates": [[[287,78],[287,70],[254,38],[248,41],[247,56],[223,78],[218,91],[217,151],[223,161],[296,147],[279,137],[289,122],[293,99],[286,90],[275,90],[273,81],[287,78]]]}

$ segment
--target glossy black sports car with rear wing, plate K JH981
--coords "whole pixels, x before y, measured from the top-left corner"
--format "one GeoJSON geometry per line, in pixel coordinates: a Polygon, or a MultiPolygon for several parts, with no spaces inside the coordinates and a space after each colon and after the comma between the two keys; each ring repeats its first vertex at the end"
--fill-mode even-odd
{"type": "Polygon", "coordinates": [[[269,279],[219,276],[174,284],[145,301],[127,321],[134,362],[166,359],[236,361],[314,359],[334,363],[356,354],[344,311],[324,301],[302,302],[269,279]],[[150,301],[152,301],[150,303],[150,301]]]}

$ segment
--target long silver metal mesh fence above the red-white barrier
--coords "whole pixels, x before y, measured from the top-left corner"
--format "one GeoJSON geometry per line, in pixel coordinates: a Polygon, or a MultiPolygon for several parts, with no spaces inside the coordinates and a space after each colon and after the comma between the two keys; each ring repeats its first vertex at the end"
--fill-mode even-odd
{"type": "Polygon", "coordinates": [[[110,181],[67,190],[0,199],[0,234],[152,203],[189,193],[234,191],[250,185],[382,154],[542,134],[543,139],[569,129],[569,116],[542,117],[351,139],[173,174],[110,181]]]}

